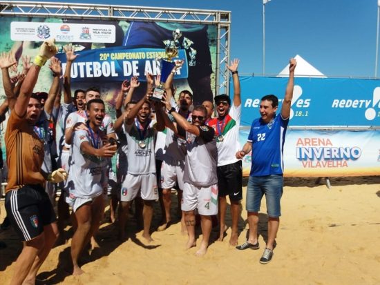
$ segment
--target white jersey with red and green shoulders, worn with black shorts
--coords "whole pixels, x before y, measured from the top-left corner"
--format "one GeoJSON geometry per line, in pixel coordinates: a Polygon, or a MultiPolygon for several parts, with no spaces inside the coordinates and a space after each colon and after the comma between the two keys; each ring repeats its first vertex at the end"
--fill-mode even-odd
{"type": "Polygon", "coordinates": [[[236,158],[236,153],[240,150],[240,117],[241,104],[237,107],[232,104],[228,115],[222,121],[218,120],[218,118],[213,118],[209,121],[208,125],[215,130],[216,146],[218,147],[218,166],[234,164],[239,160],[236,158]]]}

